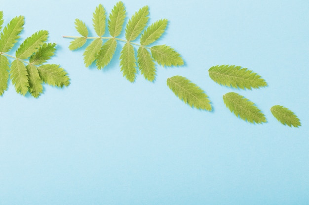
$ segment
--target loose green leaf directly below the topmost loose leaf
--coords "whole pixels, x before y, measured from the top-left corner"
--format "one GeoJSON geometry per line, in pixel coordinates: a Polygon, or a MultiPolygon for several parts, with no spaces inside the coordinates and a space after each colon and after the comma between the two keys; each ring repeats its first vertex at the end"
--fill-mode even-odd
{"type": "Polygon", "coordinates": [[[251,123],[267,122],[264,114],[253,102],[235,92],[229,92],[223,95],[223,101],[236,117],[239,116],[241,119],[251,123]]]}

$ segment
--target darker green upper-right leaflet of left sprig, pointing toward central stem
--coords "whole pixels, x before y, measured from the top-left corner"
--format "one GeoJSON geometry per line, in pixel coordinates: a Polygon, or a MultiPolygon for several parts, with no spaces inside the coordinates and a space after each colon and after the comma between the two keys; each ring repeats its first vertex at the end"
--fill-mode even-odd
{"type": "Polygon", "coordinates": [[[40,65],[46,62],[54,55],[56,51],[55,47],[55,43],[44,43],[41,47],[39,47],[39,50],[30,57],[29,62],[34,65],[40,65]]]}

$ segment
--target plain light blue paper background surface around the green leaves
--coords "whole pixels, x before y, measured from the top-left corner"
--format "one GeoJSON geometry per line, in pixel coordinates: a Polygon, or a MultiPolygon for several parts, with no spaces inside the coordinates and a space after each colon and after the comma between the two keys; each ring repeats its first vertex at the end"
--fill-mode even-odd
{"type": "MultiPolygon", "coordinates": [[[[127,16],[144,5],[150,22],[169,20],[157,44],[185,59],[183,67],[157,66],[154,83],[122,77],[119,48],[104,70],[71,52],[75,18],[91,33],[92,12],[116,1],[0,0],[5,24],[25,16],[20,44],[46,29],[69,73],[68,88],[44,86],[35,99],[9,83],[0,97],[0,205],[308,205],[309,1],[124,0],[127,16]],[[217,64],[260,74],[267,88],[236,90],[208,76],[217,64]],[[203,88],[214,111],[181,102],[166,79],[182,75],[203,88]],[[236,118],[222,95],[252,100],[268,123],[236,118]],[[301,119],[280,124],[276,104],[301,119]]],[[[126,19],[127,21],[128,19],[126,19]]],[[[123,32],[122,35],[123,37],[123,32]]],[[[121,44],[122,45],[122,44],[121,44]]]]}

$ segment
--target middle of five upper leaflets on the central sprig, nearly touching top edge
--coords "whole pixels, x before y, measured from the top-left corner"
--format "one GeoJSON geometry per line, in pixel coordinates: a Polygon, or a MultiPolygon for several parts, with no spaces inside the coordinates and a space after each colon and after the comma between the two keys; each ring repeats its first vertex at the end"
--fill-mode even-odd
{"type": "Polygon", "coordinates": [[[111,36],[117,37],[120,35],[125,17],[124,5],[121,1],[118,1],[110,13],[110,18],[108,20],[108,27],[111,36]]]}

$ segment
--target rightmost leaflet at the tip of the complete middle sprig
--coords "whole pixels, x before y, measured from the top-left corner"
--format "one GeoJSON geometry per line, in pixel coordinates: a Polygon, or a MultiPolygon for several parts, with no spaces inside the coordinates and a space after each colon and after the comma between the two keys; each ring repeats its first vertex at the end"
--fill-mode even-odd
{"type": "Polygon", "coordinates": [[[150,50],[154,60],[162,66],[177,66],[184,64],[184,60],[180,57],[180,54],[169,46],[154,46],[150,50]]]}

